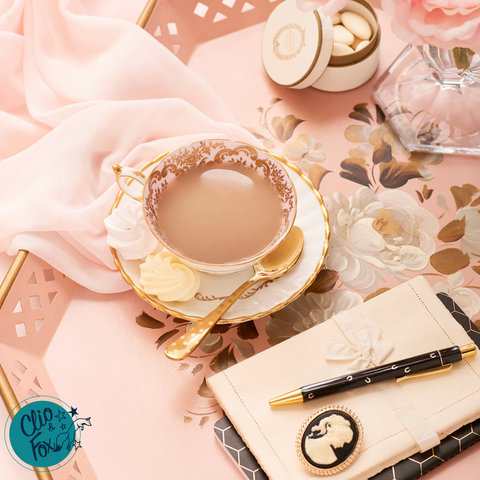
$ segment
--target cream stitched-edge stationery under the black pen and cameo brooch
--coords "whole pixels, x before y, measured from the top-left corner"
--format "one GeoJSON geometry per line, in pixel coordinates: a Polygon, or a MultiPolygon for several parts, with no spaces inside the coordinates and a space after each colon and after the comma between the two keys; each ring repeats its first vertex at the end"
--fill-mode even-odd
{"type": "MultiPolygon", "coordinates": [[[[369,317],[380,327],[380,339],[394,345],[382,363],[472,343],[423,277],[395,287],[347,315],[360,329],[363,316],[369,317]]],[[[480,417],[480,354],[456,362],[441,375],[399,384],[389,380],[307,403],[270,407],[268,400],[273,397],[346,372],[350,361],[331,361],[324,356],[326,341],[349,343],[337,324],[340,316],[345,313],[208,380],[237,432],[272,480],[318,478],[298,459],[295,438],[306,418],[327,405],[352,410],[364,428],[358,457],[332,477],[336,480],[368,479],[480,417]],[[397,415],[399,410],[403,416],[397,415]]]]}

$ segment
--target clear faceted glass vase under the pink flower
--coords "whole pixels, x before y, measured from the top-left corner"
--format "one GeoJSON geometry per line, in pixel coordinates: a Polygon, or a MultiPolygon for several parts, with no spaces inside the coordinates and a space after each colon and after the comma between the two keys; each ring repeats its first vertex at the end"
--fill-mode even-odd
{"type": "Polygon", "coordinates": [[[480,155],[480,54],[410,45],[373,96],[409,150],[480,155]]]}

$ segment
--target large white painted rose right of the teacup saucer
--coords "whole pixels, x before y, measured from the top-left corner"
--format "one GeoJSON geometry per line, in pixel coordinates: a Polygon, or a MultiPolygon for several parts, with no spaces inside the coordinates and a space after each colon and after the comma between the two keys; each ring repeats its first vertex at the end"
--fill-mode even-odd
{"type": "Polygon", "coordinates": [[[435,252],[438,221],[406,192],[362,187],[325,204],[332,229],[326,267],[353,290],[371,293],[386,275],[407,281],[405,271],[423,270],[435,252]]]}

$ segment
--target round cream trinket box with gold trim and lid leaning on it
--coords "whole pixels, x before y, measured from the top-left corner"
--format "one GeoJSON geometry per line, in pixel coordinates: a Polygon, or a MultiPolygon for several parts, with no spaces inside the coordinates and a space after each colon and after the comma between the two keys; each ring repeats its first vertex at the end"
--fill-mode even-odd
{"type": "MultiPolygon", "coordinates": [[[[377,15],[366,0],[348,0],[341,12],[363,17],[371,30],[362,48],[348,48],[352,53],[343,55],[337,54],[341,53],[339,49],[334,50],[332,17],[325,16],[321,9],[302,12],[295,0],[280,3],[270,14],[262,36],[262,61],[267,75],[283,87],[311,86],[327,92],[350,90],[368,81],[378,67],[380,53],[377,15]]],[[[338,47],[338,43],[335,45],[338,47]]]]}

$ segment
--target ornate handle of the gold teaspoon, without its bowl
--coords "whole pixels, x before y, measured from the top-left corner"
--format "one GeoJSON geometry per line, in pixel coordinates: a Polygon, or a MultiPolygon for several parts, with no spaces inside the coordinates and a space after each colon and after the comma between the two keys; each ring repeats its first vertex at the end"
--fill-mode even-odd
{"type": "Polygon", "coordinates": [[[268,276],[257,274],[250,280],[247,280],[243,285],[240,285],[240,287],[228,296],[215,310],[210,312],[205,318],[197,322],[188,332],[185,332],[180,338],[171,343],[165,349],[165,355],[172,360],[184,360],[187,358],[217,324],[222,315],[240,298],[242,294],[260,280],[268,280],[268,276]]]}

